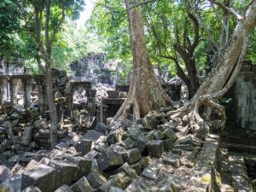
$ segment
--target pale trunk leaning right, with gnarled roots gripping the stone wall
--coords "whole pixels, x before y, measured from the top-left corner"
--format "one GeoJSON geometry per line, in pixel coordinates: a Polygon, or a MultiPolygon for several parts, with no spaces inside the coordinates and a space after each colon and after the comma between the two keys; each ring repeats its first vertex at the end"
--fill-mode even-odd
{"type": "Polygon", "coordinates": [[[217,99],[230,89],[239,73],[242,61],[246,55],[247,38],[256,26],[256,2],[254,1],[240,20],[230,37],[229,43],[219,55],[216,66],[212,69],[207,79],[201,84],[195,96],[189,104],[167,115],[170,119],[177,120],[184,125],[183,116],[189,118],[184,132],[192,131],[195,134],[204,135],[209,132],[207,119],[202,119],[199,108],[205,106],[220,116],[220,122],[225,123],[224,107],[216,103],[217,99]]]}

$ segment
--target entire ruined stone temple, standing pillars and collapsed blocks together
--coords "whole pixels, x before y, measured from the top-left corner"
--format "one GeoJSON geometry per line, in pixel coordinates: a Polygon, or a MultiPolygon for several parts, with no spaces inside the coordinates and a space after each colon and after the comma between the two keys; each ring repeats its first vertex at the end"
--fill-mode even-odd
{"type": "MultiPolygon", "coordinates": [[[[23,192],[253,191],[253,118],[243,113],[252,107],[253,73],[246,68],[233,88],[237,100],[243,101],[241,93],[249,93],[247,101],[251,101],[246,106],[237,102],[237,108],[241,109],[233,115],[237,130],[243,130],[240,137],[229,127],[220,137],[184,135],[184,127],[166,118],[169,108],[161,108],[157,119],[149,113],[134,122],[132,115],[128,115],[122,121],[108,124],[108,119],[124,102],[129,85],[93,86],[90,81],[61,78],[55,79],[59,84],[65,81],[64,88],[55,94],[59,144],[49,150],[47,108],[40,113],[39,102],[33,108],[2,105],[1,112],[7,115],[3,114],[0,121],[3,164],[0,189],[23,192]],[[249,148],[246,157],[237,153],[238,146],[243,147],[242,150],[249,148]]],[[[8,75],[3,81],[20,79],[22,82],[23,75],[34,82],[40,79],[40,76],[19,75],[8,75]]],[[[182,84],[176,86],[178,79],[171,82],[163,87],[177,101],[177,106],[181,105],[182,84]]],[[[37,87],[38,84],[29,90],[36,92],[37,87]]],[[[9,98],[15,97],[10,95],[9,98]]],[[[33,103],[32,97],[30,102],[33,103]]]]}

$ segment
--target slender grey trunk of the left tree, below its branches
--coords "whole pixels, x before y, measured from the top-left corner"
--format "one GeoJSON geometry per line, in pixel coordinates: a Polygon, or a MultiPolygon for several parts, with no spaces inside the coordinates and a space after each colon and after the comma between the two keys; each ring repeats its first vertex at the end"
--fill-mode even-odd
{"type": "Polygon", "coordinates": [[[45,84],[46,84],[46,96],[49,108],[49,118],[50,118],[50,143],[51,148],[54,148],[55,145],[58,144],[58,136],[57,136],[57,113],[55,108],[55,97],[53,91],[53,84],[52,84],[52,73],[51,73],[51,65],[50,61],[45,63],[45,84]]]}

